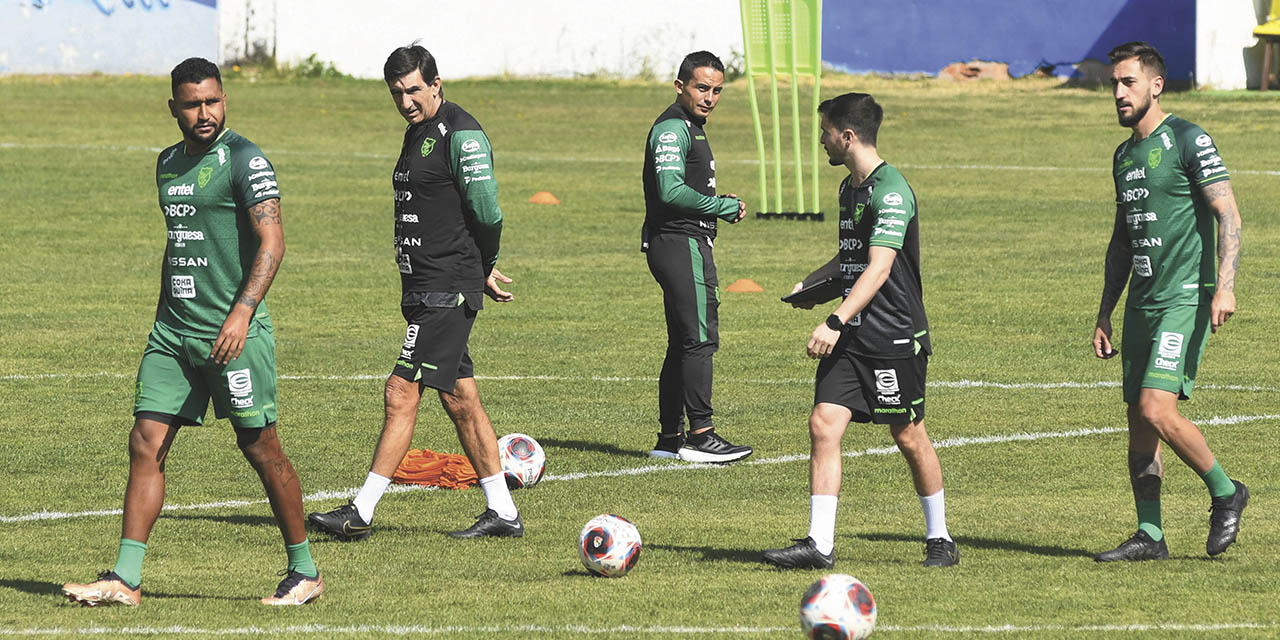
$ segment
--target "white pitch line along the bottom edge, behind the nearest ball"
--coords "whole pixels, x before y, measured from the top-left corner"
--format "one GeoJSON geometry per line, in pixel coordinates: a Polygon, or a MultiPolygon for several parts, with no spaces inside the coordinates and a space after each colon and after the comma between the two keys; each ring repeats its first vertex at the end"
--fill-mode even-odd
{"type": "MultiPolygon", "coordinates": [[[[1271,630],[1280,628],[1280,625],[1275,622],[1225,622],[1225,623],[1206,623],[1206,625],[1179,625],[1179,623],[1157,623],[1157,625],[991,625],[991,626],[957,626],[957,625],[877,625],[876,631],[888,632],[888,634],[919,634],[919,632],[934,632],[934,634],[1005,634],[1005,635],[1021,635],[1021,634],[1038,634],[1038,632],[1074,632],[1074,634],[1100,634],[1100,632],[1142,632],[1142,631],[1165,631],[1165,632],[1207,632],[1207,631],[1245,631],[1245,630],[1271,630]]],[[[703,634],[735,634],[735,635],[759,635],[759,634],[781,634],[781,632],[795,632],[796,627],[763,627],[763,626],[732,626],[732,627],[694,627],[694,626],[634,626],[634,625],[616,625],[611,627],[593,627],[588,625],[480,625],[480,626],[428,626],[428,625],[347,625],[347,626],[333,626],[333,625],[288,625],[288,626],[244,626],[244,627],[191,627],[191,626],[168,626],[168,627],[108,627],[108,626],[88,626],[88,627],[27,627],[27,628],[3,628],[0,627],[0,636],[47,636],[47,635],[88,635],[88,636],[101,636],[101,635],[125,635],[125,636],[155,636],[155,635],[195,635],[195,636],[225,636],[225,635],[265,635],[265,636],[283,636],[283,635],[389,635],[389,636],[435,636],[435,635],[489,635],[489,634],[521,634],[521,635],[541,635],[541,634],[577,634],[577,635],[604,635],[604,636],[620,636],[620,635],[703,635],[703,634]]]]}

